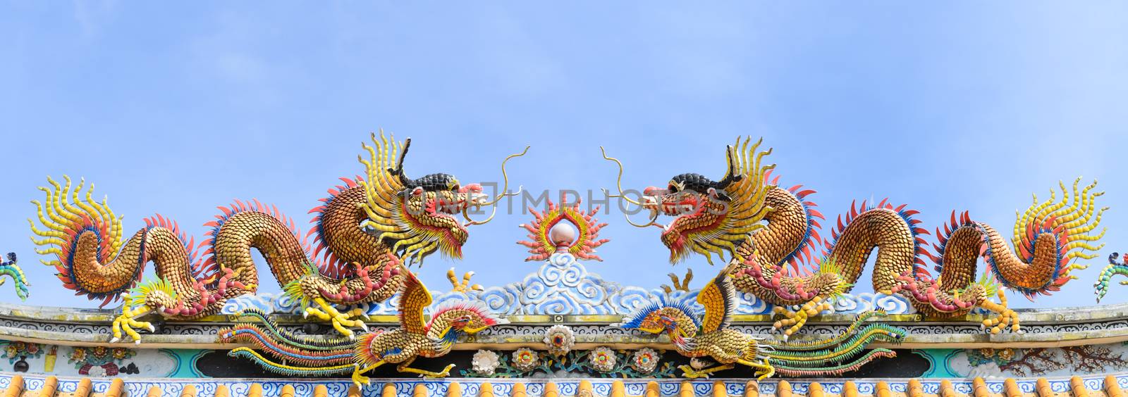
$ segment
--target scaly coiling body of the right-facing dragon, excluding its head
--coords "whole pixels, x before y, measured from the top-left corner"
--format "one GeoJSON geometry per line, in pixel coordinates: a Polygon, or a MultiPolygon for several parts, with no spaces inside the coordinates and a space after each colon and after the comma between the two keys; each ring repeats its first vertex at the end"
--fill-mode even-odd
{"type": "MultiPolygon", "coordinates": [[[[78,188],[73,192],[68,192],[70,186],[56,188],[56,194],[49,194],[47,201],[58,203],[56,197],[78,192],[78,188]]],[[[359,223],[358,219],[367,218],[356,206],[358,203],[363,203],[361,189],[354,186],[338,194],[336,200],[325,206],[321,217],[327,224],[323,230],[334,237],[336,236],[332,233],[349,235],[347,240],[352,241],[334,249],[332,241],[335,240],[327,239],[331,241],[328,249],[337,259],[356,263],[365,268],[363,276],[337,277],[331,272],[310,274],[307,265],[311,263],[308,258],[310,249],[300,242],[293,223],[262,204],[243,202],[237,202],[231,208],[221,208],[223,214],[217,217],[217,221],[206,223],[214,229],[209,232],[210,239],[204,244],[208,247],[204,254],[210,255],[205,261],[195,259],[199,248],[193,247],[191,240],[185,240],[175,223],[159,215],[147,219],[146,228],[121,244],[106,241],[116,236],[103,232],[120,229],[116,221],[98,218],[96,213],[67,212],[65,215],[78,218],[78,222],[67,227],[79,231],[73,236],[67,233],[72,242],[59,247],[62,252],[60,259],[67,261],[55,261],[53,265],[68,288],[92,299],[104,299],[105,305],[133,288],[146,264],[152,262],[156,273],[167,283],[168,290],[155,290],[155,293],[146,297],[147,303],[164,308],[161,311],[174,319],[193,319],[215,314],[227,299],[254,292],[258,274],[252,258],[252,248],[263,255],[282,286],[299,282],[303,290],[318,293],[334,303],[351,302],[347,298],[358,291],[371,290],[355,301],[380,301],[390,297],[398,288],[395,257],[388,255],[390,250],[386,246],[359,229],[341,228],[349,221],[359,223]],[[112,253],[116,245],[121,245],[121,249],[112,253]],[[361,255],[364,252],[376,255],[361,255]],[[347,294],[338,293],[341,285],[349,291],[347,294]]],[[[53,211],[58,208],[60,206],[52,205],[52,210],[44,212],[49,212],[49,217],[62,213],[53,211]]],[[[70,217],[55,218],[68,221],[70,217]]],[[[54,230],[65,223],[53,223],[44,219],[43,224],[54,230]]],[[[39,230],[36,229],[36,232],[39,230]]]]}

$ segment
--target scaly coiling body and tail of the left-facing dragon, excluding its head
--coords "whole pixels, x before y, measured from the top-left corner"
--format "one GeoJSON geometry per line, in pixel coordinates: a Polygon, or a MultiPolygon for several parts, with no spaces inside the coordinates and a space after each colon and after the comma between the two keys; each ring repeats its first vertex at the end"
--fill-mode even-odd
{"type": "MultiPolygon", "coordinates": [[[[874,208],[858,211],[852,206],[845,221],[832,231],[834,240],[825,241],[822,261],[835,272],[811,272],[807,275],[790,275],[783,264],[810,259],[814,241],[796,238],[795,226],[816,221],[803,211],[802,197],[792,191],[773,186],[767,193],[766,205],[775,211],[765,217],[766,227],[752,233],[748,241],[738,247],[738,256],[748,258],[735,264],[734,283],[741,291],[749,291],[772,303],[787,306],[802,305],[826,292],[848,291],[861,276],[870,256],[876,248],[878,257],[873,268],[873,289],[893,293],[904,292],[913,306],[929,317],[957,317],[967,315],[971,308],[986,301],[992,285],[977,283],[980,258],[992,271],[994,279],[1006,288],[1028,295],[1057,291],[1069,279],[1069,271],[1082,268],[1070,264],[1075,257],[1090,258],[1079,249],[1098,249],[1087,244],[1100,236],[1086,236],[1100,222],[1100,210],[1095,210],[1089,193],[1074,186],[1074,201],[1068,203],[1036,203],[1031,210],[1045,212],[1041,221],[1033,221],[1036,211],[1028,211],[1026,227],[1019,223],[1016,246],[1020,257],[1004,237],[986,223],[975,222],[967,213],[952,214],[944,230],[936,230],[940,244],[936,255],[925,249],[922,237],[928,232],[918,227],[911,217],[915,211],[904,206],[893,208],[881,202],[874,208]],[[1038,210],[1040,206],[1041,210],[1038,210]],[[1056,206],[1054,211],[1047,208],[1056,206]],[[797,250],[800,255],[792,253],[797,250]],[[756,255],[751,255],[756,253],[756,255]],[[805,257],[800,257],[805,255],[805,257]],[[924,258],[931,258],[940,272],[935,280],[924,270],[924,258]]],[[[1063,195],[1067,195],[1063,187],[1063,195]]],[[[817,222],[817,221],[816,221],[817,222]]],[[[805,228],[804,228],[805,229],[805,228]]],[[[799,237],[802,237],[800,235],[799,237]]],[[[795,273],[795,272],[791,272],[795,273]]]]}

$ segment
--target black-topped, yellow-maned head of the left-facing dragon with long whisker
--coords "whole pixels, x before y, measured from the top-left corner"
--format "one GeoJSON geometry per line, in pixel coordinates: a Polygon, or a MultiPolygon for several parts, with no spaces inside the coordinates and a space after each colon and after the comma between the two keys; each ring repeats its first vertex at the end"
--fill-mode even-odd
{"type": "Polygon", "coordinates": [[[623,193],[623,164],[606,153],[603,158],[619,166],[619,194],[614,197],[650,212],[649,223],[638,224],[627,219],[631,224],[659,226],[662,242],[670,249],[671,263],[684,261],[691,253],[702,254],[713,263],[713,254],[722,258],[725,253],[735,256],[735,247],[764,226],[760,221],[770,211],[764,205],[769,187],[764,183],[764,175],[775,166],[760,166],[770,149],[757,152],[759,144],[751,143],[749,138],[738,139],[734,145],[729,145],[725,150],[728,171],[720,180],[700,174],[680,174],[670,178],[664,187],[646,187],[641,202],[623,193]],[[659,215],[673,217],[673,220],[659,224],[659,215]]]}

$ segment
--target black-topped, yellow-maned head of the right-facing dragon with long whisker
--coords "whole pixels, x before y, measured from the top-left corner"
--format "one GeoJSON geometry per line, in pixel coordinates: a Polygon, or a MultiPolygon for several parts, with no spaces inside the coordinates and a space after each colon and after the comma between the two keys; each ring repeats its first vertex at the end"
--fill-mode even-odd
{"type": "Polygon", "coordinates": [[[468,237],[466,228],[493,219],[491,215],[485,221],[470,220],[470,210],[493,206],[496,211],[500,198],[512,195],[505,193],[509,188],[508,176],[497,197],[483,194],[479,184],[462,185],[450,174],[430,174],[412,179],[404,171],[411,139],[400,143],[385,138],[381,132],[379,139],[373,133],[371,140],[372,145],[362,145],[369,158],[360,158],[367,169],[367,178],[361,182],[365,189],[363,210],[367,219],[361,220],[360,227],[414,263],[422,262],[424,256],[437,250],[447,257],[460,258],[462,244],[468,237]],[[465,223],[457,218],[458,214],[462,215],[465,223]]]}

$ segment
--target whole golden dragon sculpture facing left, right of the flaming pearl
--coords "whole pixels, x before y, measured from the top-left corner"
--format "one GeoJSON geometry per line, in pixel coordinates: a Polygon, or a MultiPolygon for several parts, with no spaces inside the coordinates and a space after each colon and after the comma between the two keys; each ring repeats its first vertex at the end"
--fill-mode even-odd
{"type": "Polygon", "coordinates": [[[873,205],[852,205],[846,217],[837,219],[830,238],[821,238],[825,217],[810,201],[812,189],[790,188],[772,178],[775,165],[763,164],[770,149],[758,151],[760,141],[738,139],[726,149],[728,173],[721,180],[699,174],[680,174],[663,188],[647,187],[641,200],[623,193],[623,164],[619,167],[619,193],[611,195],[650,211],[649,223],[662,229],[662,242],[670,249],[670,262],[678,263],[693,253],[731,258],[726,272],[737,290],[749,292],[776,305],[786,318],[776,328],[795,333],[810,316],[830,308],[828,300],[849,291],[862,274],[874,248],[874,291],[900,293],[918,312],[933,318],[962,317],[976,307],[998,314],[984,320],[992,333],[1010,327],[1019,332],[1019,318],[1006,307],[998,284],[1033,298],[1049,294],[1074,279],[1073,270],[1085,268],[1074,259],[1090,259],[1102,245],[1104,232],[1090,235],[1107,208],[1098,208],[1093,192],[1096,183],[1078,189],[1060,184],[1061,197],[1050,191],[1050,198],[1039,201],[1017,214],[1011,245],[989,224],[977,222],[964,212],[952,212],[943,231],[936,229],[935,254],[926,249],[928,231],[913,219],[917,211],[895,206],[887,200],[873,205]],[[1072,194],[1070,194],[1072,193],[1072,194]],[[668,224],[656,222],[660,214],[675,217],[668,224]],[[1013,245],[1013,248],[1012,248],[1013,245]],[[925,268],[925,258],[935,263],[935,279],[925,268]],[[978,281],[979,258],[989,270],[978,281]],[[1001,302],[988,298],[998,294],[1001,302]],[[800,310],[785,309],[800,305],[800,310]]]}

